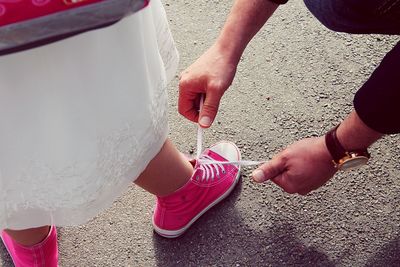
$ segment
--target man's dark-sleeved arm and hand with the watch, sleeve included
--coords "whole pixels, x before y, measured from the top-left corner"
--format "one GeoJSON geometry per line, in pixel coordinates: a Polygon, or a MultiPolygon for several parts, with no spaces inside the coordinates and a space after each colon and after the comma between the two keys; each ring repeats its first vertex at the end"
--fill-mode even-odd
{"type": "MultiPolygon", "coordinates": [[[[358,90],[353,110],[337,129],[346,151],[363,150],[383,136],[400,133],[400,43],[358,90]]],[[[295,142],[253,172],[256,182],[271,180],[286,192],[307,194],[337,170],[323,137],[295,142]]]]}

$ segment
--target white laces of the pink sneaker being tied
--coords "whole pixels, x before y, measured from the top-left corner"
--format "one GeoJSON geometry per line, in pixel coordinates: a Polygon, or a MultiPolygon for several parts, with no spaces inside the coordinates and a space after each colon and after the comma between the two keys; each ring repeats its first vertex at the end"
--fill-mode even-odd
{"type": "MultiPolygon", "coordinates": [[[[204,96],[202,96],[200,99],[200,110],[203,108],[203,101],[204,101],[204,96]]],[[[232,165],[239,165],[239,166],[254,166],[254,165],[260,165],[260,164],[264,163],[264,161],[254,161],[254,160],[218,161],[218,160],[214,160],[206,155],[201,156],[201,152],[203,151],[203,131],[204,131],[203,128],[201,128],[200,124],[198,124],[198,126],[197,126],[197,156],[196,156],[196,159],[199,162],[199,164],[201,165],[200,168],[203,170],[202,179],[208,180],[210,177],[214,177],[214,169],[217,171],[216,175],[218,177],[218,175],[219,175],[218,168],[222,169],[223,172],[225,171],[225,168],[223,167],[223,165],[232,164],[232,165]],[[214,165],[214,168],[212,168],[211,165],[214,165]],[[204,166],[204,169],[203,169],[203,166],[204,166]],[[211,175],[211,176],[209,176],[209,175],[211,175]]]]}

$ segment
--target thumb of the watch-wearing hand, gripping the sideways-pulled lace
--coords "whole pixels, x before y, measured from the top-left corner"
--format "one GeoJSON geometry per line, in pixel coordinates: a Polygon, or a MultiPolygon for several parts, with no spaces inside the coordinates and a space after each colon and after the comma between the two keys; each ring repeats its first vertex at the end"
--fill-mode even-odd
{"type": "Polygon", "coordinates": [[[253,180],[262,183],[271,180],[286,171],[286,164],[280,157],[275,157],[253,171],[253,180]]]}

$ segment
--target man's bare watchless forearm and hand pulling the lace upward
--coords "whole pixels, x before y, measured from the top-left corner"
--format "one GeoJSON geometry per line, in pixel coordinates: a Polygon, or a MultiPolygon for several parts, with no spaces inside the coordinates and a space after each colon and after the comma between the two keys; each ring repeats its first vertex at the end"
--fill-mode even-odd
{"type": "Polygon", "coordinates": [[[202,127],[211,126],[244,49],[277,7],[271,0],[236,0],[214,45],[181,74],[178,108],[183,116],[202,127]]]}

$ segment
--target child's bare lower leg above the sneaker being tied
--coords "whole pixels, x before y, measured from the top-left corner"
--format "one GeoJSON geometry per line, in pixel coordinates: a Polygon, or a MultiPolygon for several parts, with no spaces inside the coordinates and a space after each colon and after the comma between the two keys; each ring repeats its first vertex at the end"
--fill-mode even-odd
{"type": "Polygon", "coordinates": [[[167,140],[135,183],[153,195],[165,196],[185,185],[192,174],[193,166],[167,140]]]}

